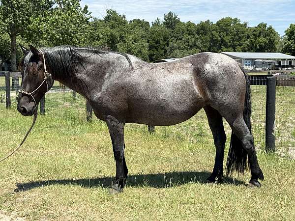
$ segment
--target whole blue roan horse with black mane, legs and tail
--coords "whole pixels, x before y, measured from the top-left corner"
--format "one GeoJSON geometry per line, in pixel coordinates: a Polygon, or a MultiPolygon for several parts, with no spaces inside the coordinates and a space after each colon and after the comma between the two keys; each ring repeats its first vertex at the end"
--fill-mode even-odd
{"type": "Polygon", "coordinates": [[[221,181],[226,135],[222,118],[232,128],[227,174],[244,172],[247,158],[250,186],[260,187],[259,167],[251,134],[250,86],[247,74],[232,58],[200,53],[167,63],[147,63],[123,53],[54,47],[22,47],[22,91],[17,109],[32,115],[54,81],[89,100],[95,115],[106,121],[116,160],[115,191],[124,188],[128,169],[124,158],[124,125],[173,125],[206,111],[216,147],[208,181],[221,181]],[[51,74],[49,74],[51,73],[51,74]],[[30,93],[33,92],[33,93],[30,93]]]}

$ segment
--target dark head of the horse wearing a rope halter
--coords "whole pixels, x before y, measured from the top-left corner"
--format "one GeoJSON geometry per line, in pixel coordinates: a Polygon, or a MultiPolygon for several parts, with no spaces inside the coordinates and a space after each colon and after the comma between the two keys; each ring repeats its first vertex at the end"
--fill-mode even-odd
{"type": "Polygon", "coordinates": [[[17,110],[24,116],[31,116],[54,81],[51,74],[46,71],[43,52],[31,45],[29,45],[29,49],[21,45],[20,47],[24,57],[19,65],[19,71],[22,73],[22,85],[19,90],[17,110]]]}

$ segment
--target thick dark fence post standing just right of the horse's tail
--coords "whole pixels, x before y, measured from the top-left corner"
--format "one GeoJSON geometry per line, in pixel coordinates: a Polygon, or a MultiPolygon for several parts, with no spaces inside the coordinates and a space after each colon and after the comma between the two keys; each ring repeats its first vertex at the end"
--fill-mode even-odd
{"type": "Polygon", "coordinates": [[[266,78],[266,152],[275,152],[275,85],[275,76],[266,78]]]}

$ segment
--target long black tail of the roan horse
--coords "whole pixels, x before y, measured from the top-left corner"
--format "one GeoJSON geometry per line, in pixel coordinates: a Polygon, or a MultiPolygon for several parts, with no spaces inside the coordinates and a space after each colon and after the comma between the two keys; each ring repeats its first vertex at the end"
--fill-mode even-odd
{"type": "MultiPolygon", "coordinates": [[[[240,66],[240,65],[239,65],[240,66]]],[[[248,75],[243,67],[241,67],[242,72],[244,73],[246,79],[246,94],[245,94],[245,103],[244,103],[244,111],[243,118],[244,121],[249,128],[251,133],[251,90],[250,90],[250,82],[248,75]]],[[[244,173],[247,168],[247,152],[242,147],[241,141],[236,137],[236,135],[232,132],[231,143],[229,154],[226,162],[226,173],[227,175],[232,174],[234,171],[239,173],[244,173]]]]}

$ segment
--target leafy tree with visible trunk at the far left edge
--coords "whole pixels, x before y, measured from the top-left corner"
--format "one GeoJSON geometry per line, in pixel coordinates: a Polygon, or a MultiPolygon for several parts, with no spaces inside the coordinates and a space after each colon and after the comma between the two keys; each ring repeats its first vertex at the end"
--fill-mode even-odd
{"type": "Polygon", "coordinates": [[[16,71],[16,37],[32,34],[29,25],[38,14],[53,5],[52,0],[0,0],[0,28],[11,39],[11,68],[16,71]]]}

